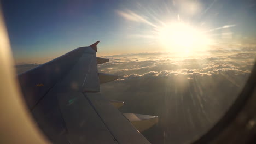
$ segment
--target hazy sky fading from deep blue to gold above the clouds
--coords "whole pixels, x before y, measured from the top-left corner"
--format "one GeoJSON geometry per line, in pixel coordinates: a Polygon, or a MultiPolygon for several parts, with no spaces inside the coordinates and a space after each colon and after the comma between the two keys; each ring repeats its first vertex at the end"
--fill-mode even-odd
{"type": "Polygon", "coordinates": [[[46,62],[97,40],[98,55],[166,51],[162,29],[175,29],[173,23],[196,29],[214,46],[252,45],[256,37],[254,1],[8,0],[2,7],[18,64],[46,62]]]}

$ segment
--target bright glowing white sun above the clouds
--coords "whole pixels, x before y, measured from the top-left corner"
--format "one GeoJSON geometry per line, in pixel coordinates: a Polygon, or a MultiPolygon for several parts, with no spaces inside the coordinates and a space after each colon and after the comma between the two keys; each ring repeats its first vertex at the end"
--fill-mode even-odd
{"type": "Polygon", "coordinates": [[[183,53],[206,50],[211,44],[207,35],[185,23],[171,23],[160,28],[159,40],[167,50],[183,53]]]}

